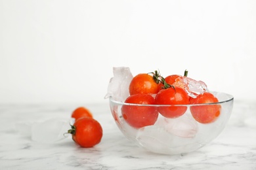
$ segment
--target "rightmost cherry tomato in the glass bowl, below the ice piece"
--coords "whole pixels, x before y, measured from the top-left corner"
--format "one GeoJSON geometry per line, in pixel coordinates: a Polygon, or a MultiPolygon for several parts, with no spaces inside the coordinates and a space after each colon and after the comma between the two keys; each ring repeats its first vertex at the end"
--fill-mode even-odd
{"type": "MultiPolygon", "coordinates": [[[[190,104],[217,103],[218,99],[209,92],[204,92],[196,98],[190,99],[190,104]]],[[[208,124],[217,120],[221,114],[221,105],[191,106],[190,112],[195,120],[202,124],[208,124]]]]}

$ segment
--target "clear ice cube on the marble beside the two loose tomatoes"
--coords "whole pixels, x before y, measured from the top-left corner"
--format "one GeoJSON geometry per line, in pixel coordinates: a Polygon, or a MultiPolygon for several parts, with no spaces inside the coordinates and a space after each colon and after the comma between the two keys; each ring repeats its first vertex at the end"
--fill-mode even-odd
{"type": "Polygon", "coordinates": [[[65,139],[64,133],[70,128],[70,120],[60,118],[35,122],[31,127],[31,137],[33,141],[39,143],[55,143],[65,139]]]}

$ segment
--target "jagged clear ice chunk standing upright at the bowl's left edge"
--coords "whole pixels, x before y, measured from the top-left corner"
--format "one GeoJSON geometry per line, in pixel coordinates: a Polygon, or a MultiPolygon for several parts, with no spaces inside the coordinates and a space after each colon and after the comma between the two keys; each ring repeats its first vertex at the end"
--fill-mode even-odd
{"type": "Polygon", "coordinates": [[[133,75],[129,67],[114,67],[113,73],[114,77],[110,78],[108,92],[104,98],[113,97],[116,101],[123,102],[129,96],[129,84],[133,75]]]}

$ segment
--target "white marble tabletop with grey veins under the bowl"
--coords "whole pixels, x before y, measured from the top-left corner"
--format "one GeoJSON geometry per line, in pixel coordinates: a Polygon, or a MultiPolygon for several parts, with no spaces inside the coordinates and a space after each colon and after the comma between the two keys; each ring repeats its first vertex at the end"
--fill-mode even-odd
{"type": "Polygon", "coordinates": [[[84,105],[104,131],[93,148],[80,148],[70,136],[39,143],[15,129],[21,122],[69,118],[80,105],[0,105],[0,169],[256,169],[255,104],[235,100],[217,139],[196,152],[175,156],[146,152],[130,143],[117,128],[108,103],[84,105]]]}

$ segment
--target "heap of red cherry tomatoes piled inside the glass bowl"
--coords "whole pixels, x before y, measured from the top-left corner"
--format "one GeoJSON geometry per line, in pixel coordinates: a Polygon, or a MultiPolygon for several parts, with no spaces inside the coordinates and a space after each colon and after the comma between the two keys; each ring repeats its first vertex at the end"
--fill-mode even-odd
{"type": "MultiPolygon", "coordinates": [[[[218,102],[209,92],[204,92],[196,98],[190,97],[182,83],[182,78],[187,76],[187,73],[185,71],[184,76],[169,75],[164,78],[155,71],[134,76],[129,85],[130,95],[121,108],[124,120],[130,126],[140,128],[153,125],[158,120],[159,113],[165,118],[177,118],[186,112],[187,105],[218,102]]],[[[221,106],[195,105],[190,107],[190,112],[195,120],[208,124],[219,117],[221,106]]]]}

